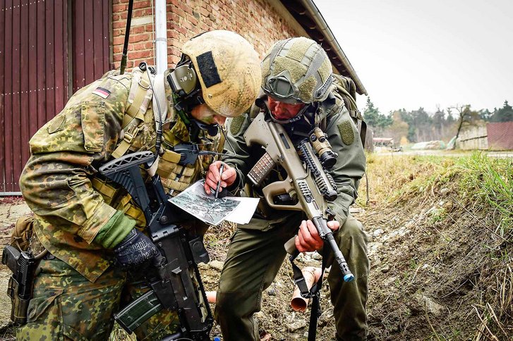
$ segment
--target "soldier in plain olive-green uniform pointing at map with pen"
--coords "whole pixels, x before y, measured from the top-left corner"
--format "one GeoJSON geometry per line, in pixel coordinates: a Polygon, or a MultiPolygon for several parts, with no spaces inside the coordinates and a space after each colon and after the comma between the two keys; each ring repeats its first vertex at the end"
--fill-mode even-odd
{"type": "MultiPolygon", "coordinates": [[[[330,174],[337,184],[338,197],[330,203],[336,213],[328,222],[350,270],[356,277],[345,283],[339,266],[332,266],[328,283],[334,305],[337,340],[365,340],[368,258],[362,225],[349,214],[357,197],[358,180],[365,172],[366,158],[358,130],[349,111],[332,91],[332,68],[325,51],[307,38],[286,39],[275,44],[262,61],[262,94],[256,103],[267,119],[281,123],[296,144],[318,126],[338,154],[330,174]]],[[[253,109],[251,110],[253,112],[253,109]]],[[[260,146],[249,148],[243,133],[255,113],[229,120],[227,139],[235,156],[224,157],[222,185],[243,190],[243,195],[262,198],[260,188],[284,180],[286,173],[275,168],[260,188],[251,186],[246,174],[263,154],[260,146]]],[[[219,164],[210,166],[205,186],[219,179],[219,164]]],[[[300,252],[322,248],[315,226],[298,211],[270,209],[260,200],[257,212],[247,225],[239,225],[221,273],[215,316],[226,341],[259,340],[253,314],[260,311],[262,290],[271,285],[282,265],[284,243],[295,237],[300,252]]],[[[331,264],[328,264],[328,266],[331,264]]],[[[286,309],[286,307],[283,307],[286,309]]]]}

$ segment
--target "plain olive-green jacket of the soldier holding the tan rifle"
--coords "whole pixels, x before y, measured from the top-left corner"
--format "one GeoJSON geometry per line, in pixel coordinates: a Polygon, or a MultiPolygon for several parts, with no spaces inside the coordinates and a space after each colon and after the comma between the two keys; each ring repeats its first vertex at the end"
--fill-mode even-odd
{"type": "MultiPolygon", "coordinates": [[[[268,110],[267,108],[265,109],[267,113],[268,110]]],[[[337,106],[330,105],[325,112],[327,112],[327,119],[325,121],[326,127],[323,128],[323,131],[327,134],[332,151],[338,154],[337,163],[329,171],[337,183],[338,197],[329,206],[336,214],[335,218],[342,226],[349,215],[349,206],[358,197],[358,182],[365,173],[366,156],[358,129],[345,106],[337,102],[337,106]],[[334,108],[337,110],[333,110],[334,108]]],[[[293,143],[308,137],[308,132],[312,129],[310,125],[303,125],[301,127],[302,121],[285,125],[293,143]],[[294,130],[290,129],[292,125],[294,125],[294,130]]],[[[246,174],[253,168],[264,152],[264,149],[260,146],[250,148],[246,145],[243,134],[250,124],[251,114],[249,113],[227,121],[229,131],[227,141],[234,147],[235,156],[224,157],[223,161],[234,166],[237,171],[237,180],[239,182],[234,183],[233,187],[229,188],[229,190],[243,190],[243,195],[262,198],[261,191],[253,187],[251,182],[246,181],[246,174]]],[[[233,155],[233,153],[230,155],[233,155]]],[[[275,168],[260,187],[265,187],[265,185],[277,180],[284,180],[284,178],[286,178],[286,173],[283,174],[282,171],[275,168]]],[[[268,230],[273,228],[274,225],[286,221],[291,214],[297,213],[297,211],[271,209],[265,204],[265,199],[262,199],[255,213],[255,218],[258,219],[252,219],[249,224],[243,225],[241,228],[268,230]]]]}

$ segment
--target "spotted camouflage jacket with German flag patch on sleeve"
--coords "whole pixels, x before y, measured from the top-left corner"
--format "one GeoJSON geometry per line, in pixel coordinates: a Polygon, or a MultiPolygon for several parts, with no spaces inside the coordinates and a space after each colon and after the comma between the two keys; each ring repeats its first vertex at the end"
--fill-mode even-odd
{"type": "MultiPolygon", "coordinates": [[[[97,179],[99,166],[112,159],[111,154],[121,141],[131,80],[131,73],[111,72],[76,92],[64,109],[30,140],[32,156],[20,177],[23,197],[35,213],[34,231],[42,247],[90,281],[95,281],[113,259],[111,249],[97,244],[95,237],[115,213],[126,211],[126,202],[112,204],[95,190],[92,182],[97,179]]],[[[163,127],[162,147],[169,149],[180,142],[190,142],[190,136],[174,110],[169,84],[164,83],[168,120],[163,127]]],[[[132,151],[155,149],[153,115],[150,102],[132,151]]],[[[198,139],[204,137],[209,136],[200,135],[198,139]]],[[[218,149],[219,134],[210,140],[214,143],[208,149],[218,149]]],[[[212,156],[202,158],[191,166],[189,183],[204,175],[203,169],[213,161],[212,156]]],[[[165,169],[161,171],[167,173],[165,169]]],[[[122,197],[123,193],[116,195],[122,197]]]]}

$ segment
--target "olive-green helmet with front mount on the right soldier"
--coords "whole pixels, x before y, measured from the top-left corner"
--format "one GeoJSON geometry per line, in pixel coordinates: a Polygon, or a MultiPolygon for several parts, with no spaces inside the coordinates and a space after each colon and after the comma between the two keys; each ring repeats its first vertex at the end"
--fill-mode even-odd
{"type": "Polygon", "coordinates": [[[277,42],[262,61],[263,91],[285,103],[324,101],[333,82],[330,59],[312,39],[277,42]]]}

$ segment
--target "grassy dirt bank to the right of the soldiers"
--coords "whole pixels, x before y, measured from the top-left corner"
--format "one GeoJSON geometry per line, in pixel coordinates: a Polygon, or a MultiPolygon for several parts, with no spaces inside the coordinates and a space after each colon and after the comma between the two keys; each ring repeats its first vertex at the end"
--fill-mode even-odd
{"type": "Polygon", "coordinates": [[[369,161],[370,337],[510,340],[512,160],[369,161]]]}

